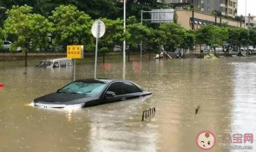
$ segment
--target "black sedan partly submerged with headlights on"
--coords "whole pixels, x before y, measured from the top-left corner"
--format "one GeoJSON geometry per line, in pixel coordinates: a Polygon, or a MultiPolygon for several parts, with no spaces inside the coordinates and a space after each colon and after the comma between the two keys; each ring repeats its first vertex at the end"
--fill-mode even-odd
{"type": "Polygon", "coordinates": [[[127,80],[85,79],[76,80],[57,92],[36,98],[32,103],[45,108],[80,108],[151,95],[142,87],[127,80]]]}

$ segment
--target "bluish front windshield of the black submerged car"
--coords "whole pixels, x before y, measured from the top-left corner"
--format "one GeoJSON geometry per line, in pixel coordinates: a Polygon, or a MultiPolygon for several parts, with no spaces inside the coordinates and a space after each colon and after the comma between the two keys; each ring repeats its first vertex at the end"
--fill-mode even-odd
{"type": "Polygon", "coordinates": [[[102,92],[104,87],[106,86],[105,83],[84,83],[84,82],[74,82],[66,87],[63,87],[60,93],[74,93],[74,94],[86,94],[95,96],[102,92]]]}

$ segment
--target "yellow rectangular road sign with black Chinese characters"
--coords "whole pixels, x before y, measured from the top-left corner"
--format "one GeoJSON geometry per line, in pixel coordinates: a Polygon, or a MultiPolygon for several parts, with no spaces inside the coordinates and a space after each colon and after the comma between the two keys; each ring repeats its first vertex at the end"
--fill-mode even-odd
{"type": "Polygon", "coordinates": [[[71,59],[83,59],[84,45],[68,45],[66,47],[66,57],[71,59]]]}

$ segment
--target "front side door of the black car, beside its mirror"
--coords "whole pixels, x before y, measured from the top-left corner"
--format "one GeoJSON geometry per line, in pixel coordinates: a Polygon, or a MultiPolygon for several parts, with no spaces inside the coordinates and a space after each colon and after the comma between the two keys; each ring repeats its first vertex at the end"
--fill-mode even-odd
{"type": "Polygon", "coordinates": [[[111,83],[110,86],[106,89],[105,93],[107,91],[112,91],[115,92],[115,96],[112,97],[107,97],[105,99],[105,103],[111,103],[111,102],[116,102],[116,101],[121,101],[123,98],[123,90],[120,85],[120,82],[114,82],[111,83]]]}

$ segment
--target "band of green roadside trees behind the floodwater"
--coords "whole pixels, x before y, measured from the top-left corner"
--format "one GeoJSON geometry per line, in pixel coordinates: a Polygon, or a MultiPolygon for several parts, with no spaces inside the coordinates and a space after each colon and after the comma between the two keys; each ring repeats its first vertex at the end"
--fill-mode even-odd
{"type": "MultiPolygon", "coordinates": [[[[8,0],[7,0],[8,1],[8,0]]],[[[27,52],[65,52],[66,45],[81,44],[86,52],[95,51],[95,38],[91,34],[91,26],[97,19],[106,24],[106,33],[99,39],[99,52],[113,52],[116,46],[122,47],[124,39],[130,51],[139,51],[143,42],[143,50],[159,53],[161,48],[168,52],[179,49],[193,50],[196,44],[207,45],[216,49],[225,45],[238,48],[256,46],[256,30],[228,26],[205,25],[199,30],[186,30],[177,23],[155,24],[146,22],[141,25],[140,11],[154,8],[171,7],[147,0],[139,4],[128,0],[127,29],[124,34],[122,3],[115,0],[24,0],[8,1],[5,4],[4,22],[0,28],[0,50],[3,52],[3,40],[12,43],[10,52],[18,47],[27,52]],[[75,3],[74,3],[75,2],[75,3]],[[13,5],[14,4],[14,5],[13,5]],[[65,5],[64,5],[65,4],[65,5]],[[29,6],[30,5],[30,6],[29,6]],[[33,7],[32,7],[33,6],[33,7]],[[82,11],[84,10],[84,11],[82,11]]],[[[201,47],[200,47],[201,48],[201,47]]],[[[122,50],[122,49],[120,49],[122,50]]],[[[103,58],[103,62],[105,57],[103,58]]]]}

